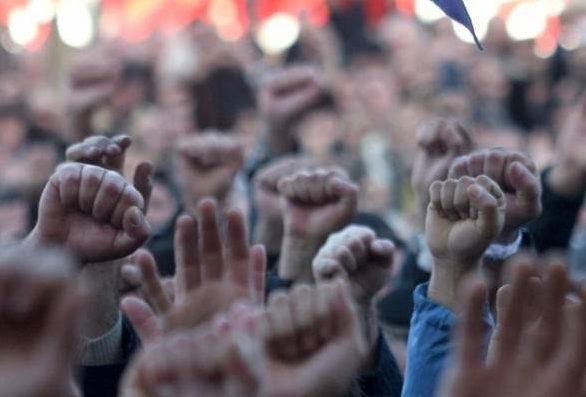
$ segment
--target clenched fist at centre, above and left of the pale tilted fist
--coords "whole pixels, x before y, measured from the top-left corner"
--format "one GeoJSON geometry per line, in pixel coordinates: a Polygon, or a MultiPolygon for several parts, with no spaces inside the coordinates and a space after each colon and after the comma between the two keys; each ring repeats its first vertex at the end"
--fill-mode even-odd
{"type": "Polygon", "coordinates": [[[357,213],[358,187],[339,171],[298,172],[279,182],[285,235],[321,244],[357,213]]]}

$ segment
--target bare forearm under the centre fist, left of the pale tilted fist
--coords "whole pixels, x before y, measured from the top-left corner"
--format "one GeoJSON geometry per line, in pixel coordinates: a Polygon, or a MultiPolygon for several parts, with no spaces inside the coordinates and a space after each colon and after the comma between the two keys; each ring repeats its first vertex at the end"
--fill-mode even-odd
{"type": "Polygon", "coordinates": [[[293,282],[313,282],[311,264],[322,241],[285,236],[281,245],[279,277],[293,282]]]}

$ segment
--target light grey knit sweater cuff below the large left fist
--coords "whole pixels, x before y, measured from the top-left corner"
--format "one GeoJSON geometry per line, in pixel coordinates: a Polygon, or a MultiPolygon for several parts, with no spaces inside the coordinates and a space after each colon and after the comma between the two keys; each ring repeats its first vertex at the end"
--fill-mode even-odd
{"type": "Polygon", "coordinates": [[[112,329],[97,338],[82,341],[79,364],[85,366],[110,365],[121,362],[122,357],[122,316],[112,329]]]}

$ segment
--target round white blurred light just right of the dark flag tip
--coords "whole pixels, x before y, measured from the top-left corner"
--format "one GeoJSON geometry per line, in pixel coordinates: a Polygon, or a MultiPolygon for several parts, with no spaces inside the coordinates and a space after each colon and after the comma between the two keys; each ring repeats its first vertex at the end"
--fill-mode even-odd
{"type": "Polygon", "coordinates": [[[513,40],[531,40],[547,27],[547,10],[541,2],[519,3],[507,19],[507,33],[513,40]]]}

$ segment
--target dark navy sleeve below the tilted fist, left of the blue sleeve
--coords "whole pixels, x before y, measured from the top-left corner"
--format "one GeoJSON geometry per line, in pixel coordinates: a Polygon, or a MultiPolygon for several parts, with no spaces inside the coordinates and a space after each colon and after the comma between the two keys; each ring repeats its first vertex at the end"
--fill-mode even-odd
{"type": "Polygon", "coordinates": [[[379,334],[375,367],[357,378],[358,388],[362,396],[400,397],[403,377],[385,338],[379,334]]]}

